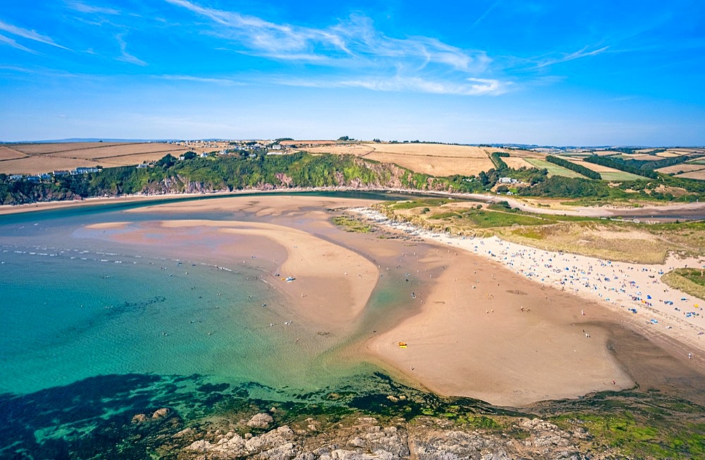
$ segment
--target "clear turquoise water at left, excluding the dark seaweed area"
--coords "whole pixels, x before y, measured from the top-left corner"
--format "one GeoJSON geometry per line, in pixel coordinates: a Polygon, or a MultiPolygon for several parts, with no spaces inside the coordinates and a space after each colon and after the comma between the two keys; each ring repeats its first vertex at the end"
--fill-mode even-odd
{"type": "Polygon", "coordinates": [[[0,245],[0,392],[110,373],[198,373],[301,390],[326,383],[313,361],[336,338],[286,325],[290,312],[258,280],[266,273],[256,260],[228,268],[145,254],[90,237],[75,218],[24,225],[16,237],[8,227],[0,245]]]}

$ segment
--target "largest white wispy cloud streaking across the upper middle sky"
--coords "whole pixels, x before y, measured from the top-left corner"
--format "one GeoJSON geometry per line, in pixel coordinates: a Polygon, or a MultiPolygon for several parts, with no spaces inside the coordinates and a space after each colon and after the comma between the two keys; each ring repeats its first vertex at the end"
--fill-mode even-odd
{"type": "MultiPolygon", "coordinates": [[[[345,82],[331,75],[328,85],[466,95],[503,94],[510,86],[509,82],[484,79],[492,63],[485,51],[462,49],[434,37],[388,37],[372,19],[360,14],[316,28],[273,23],[190,0],[165,1],[207,18],[209,34],[236,45],[230,51],[331,68],[333,74],[336,69],[358,75],[386,73],[373,79],[348,77],[345,82]]],[[[308,85],[303,79],[293,81],[308,85]]]]}

